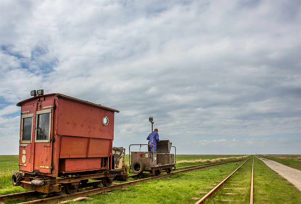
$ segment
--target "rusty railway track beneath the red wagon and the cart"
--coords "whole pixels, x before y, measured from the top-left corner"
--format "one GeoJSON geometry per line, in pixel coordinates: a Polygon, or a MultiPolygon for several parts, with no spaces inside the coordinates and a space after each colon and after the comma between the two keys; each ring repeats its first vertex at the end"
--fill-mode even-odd
{"type": "MultiPolygon", "coordinates": [[[[115,185],[110,186],[110,187],[98,187],[98,188],[95,188],[95,189],[76,192],[76,193],[71,194],[71,195],[70,194],[63,194],[63,195],[54,194],[54,196],[49,197],[49,198],[32,200],[32,201],[28,201],[28,202],[22,202],[20,204],[48,203],[48,202],[58,202],[58,201],[62,201],[64,199],[75,199],[75,198],[82,197],[82,196],[95,195],[95,194],[105,193],[105,192],[109,192],[109,191],[116,190],[116,189],[125,188],[127,186],[133,186],[133,185],[145,182],[145,181],[151,181],[151,180],[166,178],[166,177],[178,174],[178,173],[185,173],[185,172],[189,172],[189,171],[196,170],[196,169],[207,168],[207,167],[226,164],[226,163],[230,163],[230,162],[239,162],[239,161],[242,161],[242,160],[244,160],[244,159],[231,160],[231,161],[222,161],[222,162],[213,162],[213,163],[195,165],[195,166],[190,166],[190,167],[182,167],[182,168],[176,169],[176,170],[179,170],[179,169],[182,169],[182,170],[174,171],[174,172],[171,172],[169,174],[162,174],[162,175],[159,175],[159,176],[143,178],[143,179],[139,179],[139,180],[135,180],[135,181],[128,181],[128,182],[121,183],[121,184],[115,184],[115,185]]],[[[137,175],[131,175],[129,177],[135,177],[135,176],[137,176],[137,175]]],[[[89,183],[87,183],[86,187],[95,186],[95,185],[99,185],[99,184],[101,184],[101,181],[89,182],[89,183]]],[[[4,195],[4,196],[0,196],[0,202],[5,202],[6,200],[26,199],[26,198],[34,197],[34,196],[37,196],[37,195],[40,195],[40,193],[35,192],[35,191],[4,195]]]]}

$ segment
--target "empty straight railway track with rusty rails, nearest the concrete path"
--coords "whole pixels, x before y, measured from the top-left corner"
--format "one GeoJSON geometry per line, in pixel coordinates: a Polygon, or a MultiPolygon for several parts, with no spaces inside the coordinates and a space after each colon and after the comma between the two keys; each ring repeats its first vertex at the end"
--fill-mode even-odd
{"type": "MultiPolygon", "coordinates": [[[[249,160],[249,159],[248,159],[249,160]]],[[[248,161],[247,160],[247,161],[248,161]]],[[[239,188],[239,185],[234,185],[236,188],[222,188],[223,185],[225,185],[225,183],[229,180],[229,178],[234,175],[235,172],[237,172],[237,170],[243,166],[247,161],[245,161],[242,165],[240,165],[234,172],[232,172],[230,175],[227,176],[227,178],[225,178],[223,181],[221,181],[218,185],[216,185],[212,190],[210,190],[208,193],[206,192],[206,195],[203,196],[200,200],[198,200],[195,204],[200,204],[203,203],[206,199],[212,199],[213,196],[218,193],[221,189],[223,190],[246,190],[245,188],[239,188]]],[[[253,157],[253,167],[252,167],[252,177],[251,177],[251,188],[250,188],[250,204],[253,204],[253,174],[254,174],[254,157],[253,157]]],[[[239,184],[241,183],[240,181],[230,181],[233,182],[235,184],[239,184]]],[[[232,195],[245,195],[246,193],[224,193],[225,195],[228,196],[232,196],[232,195]]],[[[243,202],[243,200],[231,200],[231,199],[222,199],[222,202],[243,202]]]]}

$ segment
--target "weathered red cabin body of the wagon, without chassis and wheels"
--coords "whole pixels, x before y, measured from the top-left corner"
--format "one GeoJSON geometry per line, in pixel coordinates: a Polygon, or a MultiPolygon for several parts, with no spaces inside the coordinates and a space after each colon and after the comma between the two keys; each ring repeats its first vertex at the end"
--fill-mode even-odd
{"type": "Polygon", "coordinates": [[[114,112],[118,110],[63,94],[36,96],[17,106],[21,106],[20,172],[57,177],[60,173],[110,168],[114,112]],[[108,124],[103,123],[104,117],[108,124]],[[30,140],[23,140],[24,119],[27,123],[32,119],[32,126],[27,127],[30,140]]]}

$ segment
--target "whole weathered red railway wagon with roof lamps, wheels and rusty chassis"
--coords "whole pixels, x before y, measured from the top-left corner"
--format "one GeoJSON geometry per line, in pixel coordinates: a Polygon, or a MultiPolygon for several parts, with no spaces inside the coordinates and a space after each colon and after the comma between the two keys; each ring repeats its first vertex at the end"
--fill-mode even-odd
{"type": "MultiPolygon", "coordinates": [[[[19,172],[15,186],[42,193],[75,193],[88,179],[127,181],[125,151],[113,147],[118,110],[63,94],[43,94],[21,107],[19,172]]],[[[42,94],[41,94],[42,92],[42,94]]]]}

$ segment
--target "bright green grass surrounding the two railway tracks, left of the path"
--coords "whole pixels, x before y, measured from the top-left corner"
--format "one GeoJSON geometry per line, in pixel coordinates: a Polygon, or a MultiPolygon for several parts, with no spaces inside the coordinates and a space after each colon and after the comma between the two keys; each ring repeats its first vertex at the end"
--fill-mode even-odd
{"type": "MultiPolygon", "coordinates": [[[[251,158],[247,155],[177,155],[177,168],[191,166],[226,158],[251,158]]],[[[268,168],[261,160],[255,158],[254,162],[254,203],[299,203],[301,192],[276,172],[268,168]]],[[[249,203],[250,196],[250,174],[252,171],[251,159],[230,179],[230,181],[244,182],[247,194],[243,197],[234,197],[234,200],[241,200],[228,203],[249,203]]],[[[283,159],[283,158],[282,158],[283,159]]],[[[127,157],[128,162],[128,157],[127,157]]],[[[287,159],[288,165],[293,164],[293,160],[287,159]]],[[[0,156],[0,195],[18,193],[25,191],[21,187],[14,187],[11,184],[11,174],[18,170],[18,156],[0,156]]],[[[95,200],[79,201],[76,203],[98,204],[98,203],[195,203],[193,198],[200,198],[204,194],[200,192],[209,191],[208,187],[213,187],[233,172],[243,162],[229,163],[197,170],[188,173],[177,174],[169,178],[156,181],[148,181],[136,186],[130,186],[123,190],[113,190],[109,194],[98,194],[90,196],[95,200]],[[122,198],[122,199],[120,199],[122,198]]],[[[131,178],[130,180],[132,180],[131,178]]],[[[138,179],[138,178],[137,178],[138,179]]],[[[226,184],[226,185],[229,185],[226,184]]],[[[231,197],[231,196],[230,196],[231,197]]],[[[206,203],[220,203],[221,199],[229,199],[223,194],[216,194],[213,199],[206,203]]],[[[22,202],[25,202],[23,200],[22,202]]],[[[16,201],[6,203],[17,203],[16,201]]]]}

